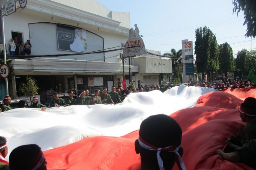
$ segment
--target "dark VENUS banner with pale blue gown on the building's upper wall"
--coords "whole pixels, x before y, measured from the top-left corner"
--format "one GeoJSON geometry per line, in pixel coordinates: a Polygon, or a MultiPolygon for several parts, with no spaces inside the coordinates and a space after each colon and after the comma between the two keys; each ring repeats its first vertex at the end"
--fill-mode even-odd
{"type": "Polygon", "coordinates": [[[86,30],[57,24],[58,49],[87,52],[86,30]]]}

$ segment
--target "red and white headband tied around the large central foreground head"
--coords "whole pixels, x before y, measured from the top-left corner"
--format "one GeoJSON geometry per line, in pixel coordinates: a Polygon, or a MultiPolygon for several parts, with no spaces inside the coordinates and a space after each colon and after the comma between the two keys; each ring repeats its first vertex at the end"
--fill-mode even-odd
{"type": "Polygon", "coordinates": [[[139,144],[142,148],[145,148],[145,149],[148,149],[148,150],[157,150],[157,153],[156,153],[156,156],[157,156],[157,161],[158,161],[158,165],[159,165],[159,168],[160,170],[164,170],[163,168],[163,160],[160,156],[160,153],[161,151],[167,151],[167,152],[173,152],[175,153],[175,157],[176,157],[176,162],[177,162],[177,165],[178,165],[178,168],[180,170],[187,170],[186,169],[186,166],[180,156],[180,154],[178,153],[178,150],[180,149],[180,146],[178,147],[175,147],[175,146],[168,146],[168,147],[165,147],[165,148],[158,148],[158,147],[155,147],[153,145],[150,145],[148,142],[146,142],[145,140],[143,140],[141,138],[141,136],[139,136],[139,144]]]}

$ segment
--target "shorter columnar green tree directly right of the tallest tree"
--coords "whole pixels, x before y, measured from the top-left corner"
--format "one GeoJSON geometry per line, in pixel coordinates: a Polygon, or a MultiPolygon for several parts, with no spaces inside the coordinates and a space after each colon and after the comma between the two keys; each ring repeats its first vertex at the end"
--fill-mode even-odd
{"type": "Polygon", "coordinates": [[[220,73],[225,74],[225,77],[228,76],[228,72],[234,70],[234,57],[233,57],[233,50],[231,46],[225,42],[219,45],[219,62],[221,64],[220,73]]]}

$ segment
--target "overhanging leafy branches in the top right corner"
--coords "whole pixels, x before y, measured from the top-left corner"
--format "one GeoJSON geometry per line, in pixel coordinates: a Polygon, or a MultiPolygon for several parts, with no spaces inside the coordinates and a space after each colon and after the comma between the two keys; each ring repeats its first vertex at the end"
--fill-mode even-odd
{"type": "Polygon", "coordinates": [[[243,25],[247,24],[247,33],[245,34],[246,37],[253,37],[256,36],[256,1],[255,0],[233,0],[233,14],[240,13],[241,10],[244,11],[244,23],[243,25]]]}

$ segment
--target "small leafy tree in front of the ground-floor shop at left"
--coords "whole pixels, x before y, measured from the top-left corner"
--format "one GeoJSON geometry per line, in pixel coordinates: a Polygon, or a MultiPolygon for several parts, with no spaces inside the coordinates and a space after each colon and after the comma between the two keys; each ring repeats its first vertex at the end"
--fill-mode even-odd
{"type": "Polygon", "coordinates": [[[26,83],[20,84],[19,90],[23,93],[24,97],[29,97],[32,103],[32,97],[38,95],[39,87],[37,86],[36,80],[32,77],[27,76],[26,83]]]}

